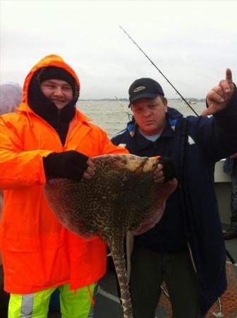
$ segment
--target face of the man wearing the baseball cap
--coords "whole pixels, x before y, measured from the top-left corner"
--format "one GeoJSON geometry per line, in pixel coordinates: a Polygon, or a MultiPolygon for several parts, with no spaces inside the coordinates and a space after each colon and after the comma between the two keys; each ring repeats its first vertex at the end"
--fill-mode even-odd
{"type": "Polygon", "coordinates": [[[166,125],[167,102],[157,98],[140,98],[131,105],[131,110],[140,131],[145,136],[160,134],[166,125]]]}

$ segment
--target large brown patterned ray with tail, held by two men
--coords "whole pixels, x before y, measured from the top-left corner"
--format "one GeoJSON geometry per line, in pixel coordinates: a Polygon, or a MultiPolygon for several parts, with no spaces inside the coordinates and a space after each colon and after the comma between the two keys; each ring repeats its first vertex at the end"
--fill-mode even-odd
{"type": "Polygon", "coordinates": [[[159,158],[101,155],[91,158],[95,175],[75,182],[49,179],[44,192],[61,223],[80,237],[99,236],[111,250],[121,289],[124,318],[133,318],[123,242],[150,230],[164,213],[176,182],[155,183],[159,158]]]}

